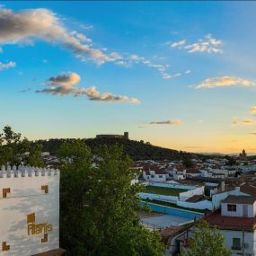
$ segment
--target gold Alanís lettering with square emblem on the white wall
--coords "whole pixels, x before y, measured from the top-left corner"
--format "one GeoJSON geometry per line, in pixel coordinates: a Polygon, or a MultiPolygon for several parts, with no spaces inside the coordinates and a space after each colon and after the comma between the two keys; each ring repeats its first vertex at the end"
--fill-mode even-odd
{"type": "Polygon", "coordinates": [[[34,213],[27,216],[28,235],[48,234],[52,231],[52,225],[49,223],[36,224],[36,215],[34,213]]]}

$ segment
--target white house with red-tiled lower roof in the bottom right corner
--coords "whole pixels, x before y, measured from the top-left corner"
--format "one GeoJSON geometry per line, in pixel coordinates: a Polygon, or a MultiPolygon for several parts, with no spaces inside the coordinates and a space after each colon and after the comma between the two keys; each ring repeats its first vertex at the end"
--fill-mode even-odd
{"type": "Polygon", "coordinates": [[[209,225],[216,225],[225,237],[225,246],[233,256],[256,255],[256,198],[228,196],[221,209],[206,216],[209,225]]]}

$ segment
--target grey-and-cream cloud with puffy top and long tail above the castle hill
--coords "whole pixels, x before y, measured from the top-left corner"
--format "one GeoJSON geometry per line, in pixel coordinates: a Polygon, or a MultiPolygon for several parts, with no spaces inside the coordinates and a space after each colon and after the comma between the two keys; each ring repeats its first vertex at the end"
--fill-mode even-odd
{"type": "Polygon", "coordinates": [[[88,88],[75,87],[81,80],[80,75],[76,73],[68,73],[50,77],[47,86],[43,90],[38,90],[36,93],[46,93],[58,96],[73,95],[75,97],[87,96],[90,101],[101,102],[129,102],[140,103],[137,98],[129,98],[128,96],[119,96],[113,93],[100,93],[95,86],[88,88]]]}

